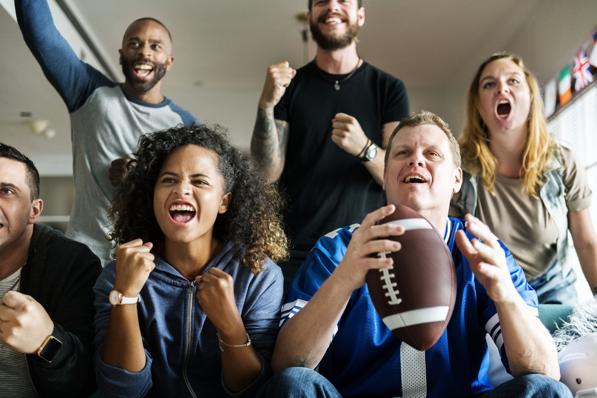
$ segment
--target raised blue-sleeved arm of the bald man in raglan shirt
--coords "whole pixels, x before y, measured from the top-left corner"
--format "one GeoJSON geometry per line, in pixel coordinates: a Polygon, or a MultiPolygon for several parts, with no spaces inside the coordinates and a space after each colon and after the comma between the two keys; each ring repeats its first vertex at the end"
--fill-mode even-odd
{"type": "Polygon", "coordinates": [[[83,105],[97,87],[116,84],[79,60],[54,26],[46,0],[15,0],[14,7],[27,47],[69,112],[83,105]]]}

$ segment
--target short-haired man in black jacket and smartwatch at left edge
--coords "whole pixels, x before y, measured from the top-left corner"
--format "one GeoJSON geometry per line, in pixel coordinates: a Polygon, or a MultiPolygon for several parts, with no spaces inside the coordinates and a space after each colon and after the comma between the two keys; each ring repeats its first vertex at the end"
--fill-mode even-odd
{"type": "Polygon", "coordinates": [[[0,143],[0,396],[88,397],[100,260],[35,224],[42,207],[33,162],[0,143]]]}

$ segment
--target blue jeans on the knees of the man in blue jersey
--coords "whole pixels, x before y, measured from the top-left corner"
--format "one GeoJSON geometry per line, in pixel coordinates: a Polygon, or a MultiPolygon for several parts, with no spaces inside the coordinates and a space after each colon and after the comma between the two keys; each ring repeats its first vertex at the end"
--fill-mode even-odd
{"type": "MultiPolygon", "coordinates": [[[[374,394],[373,391],[372,395],[374,394]]],[[[341,398],[331,382],[307,368],[286,368],[273,375],[255,398],[341,398]]],[[[480,398],[572,398],[561,382],[544,375],[524,375],[498,385],[480,398]]],[[[406,398],[406,397],[405,397],[406,398]]]]}

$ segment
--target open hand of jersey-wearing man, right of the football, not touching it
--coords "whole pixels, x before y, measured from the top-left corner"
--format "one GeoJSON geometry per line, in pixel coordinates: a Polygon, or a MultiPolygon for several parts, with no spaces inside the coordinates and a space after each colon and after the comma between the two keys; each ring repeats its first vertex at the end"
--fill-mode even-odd
{"type": "MultiPolygon", "coordinates": [[[[477,238],[469,241],[464,231],[456,232],[458,249],[466,256],[470,270],[495,302],[512,299],[516,288],[506,264],[506,255],[489,227],[475,216],[466,215],[467,229],[477,238]]],[[[518,294],[518,293],[516,293],[518,294]]]]}

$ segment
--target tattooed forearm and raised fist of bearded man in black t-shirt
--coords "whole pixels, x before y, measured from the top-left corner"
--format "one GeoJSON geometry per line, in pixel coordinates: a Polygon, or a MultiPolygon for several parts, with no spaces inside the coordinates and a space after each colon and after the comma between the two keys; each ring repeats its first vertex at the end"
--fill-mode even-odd
{"type": "Polygon", "coordinates": [[[284,169],[287,148],[288,122],[273,117],[273,107],[278,104],[286,87],[296,75],[288,62],[267,68],[263,92],[257,109],[257,120],[251,137],[251,154],[267,176],[267,182],[279,179],[284,169]]]}

